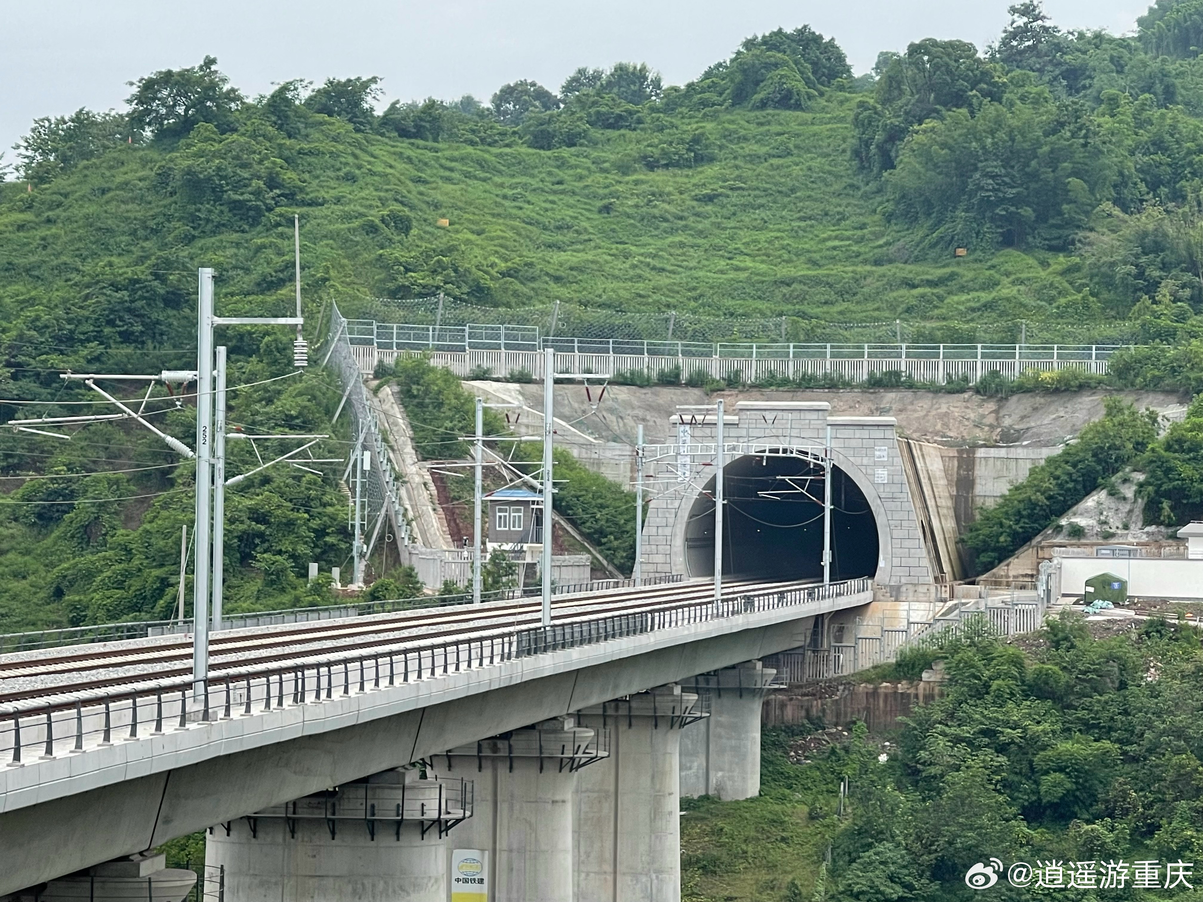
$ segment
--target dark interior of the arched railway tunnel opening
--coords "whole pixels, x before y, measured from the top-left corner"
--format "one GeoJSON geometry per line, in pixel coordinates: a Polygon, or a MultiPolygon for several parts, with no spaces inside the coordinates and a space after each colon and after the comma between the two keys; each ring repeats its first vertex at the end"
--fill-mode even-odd
{"type": "MultiPolygon", "coordinates": [[[[865,494],[832,468],[831,578],[877,572],[877,521],[865,494]]],[[[823,577],[823,468],[800,457],[741,457],[724,470],[724,578],[823,577]]],[[[715,480],[689,511],[691,576],[715,575],[715,480]]]]}

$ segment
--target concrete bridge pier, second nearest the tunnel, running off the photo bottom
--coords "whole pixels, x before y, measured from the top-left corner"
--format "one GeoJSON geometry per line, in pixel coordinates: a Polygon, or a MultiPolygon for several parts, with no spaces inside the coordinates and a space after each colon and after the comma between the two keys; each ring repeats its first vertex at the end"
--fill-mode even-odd
{"type": "Polygon", "coordinates": [[[681,898],[681,730],[700,717],[680,686],[585,708],[610,758],[577,777],[575,902],[681,898]]]}

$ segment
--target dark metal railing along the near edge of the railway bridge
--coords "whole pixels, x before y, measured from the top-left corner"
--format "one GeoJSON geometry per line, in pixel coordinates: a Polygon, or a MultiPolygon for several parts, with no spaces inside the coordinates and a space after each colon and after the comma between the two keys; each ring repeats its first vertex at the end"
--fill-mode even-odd
{"type": "Polygon", "coordinates": [[[651,611],[582,617],[551,627],[480,630],[468,637],[383,646],[346,655],[302,658],[283,665],[211,671],[200,702],[190,700],[190,667],[140,683],[78,693],[53,687],[7,693],[0,713],[0,754],[22,765],[34,752],[53,758],[66,750],[109,743],[114,736],[135,740],[165,729],[189,729],[197,720],[250,717],[286,706],[321,704],[403,683],[437,680],[449,673],[493,666],[615,639],[647,635],[700,623],[730,619],[817,601],[866,593],[872,580],[848,580],[757,594],[731,594],[722,601],[689,601],[651,611]]]}

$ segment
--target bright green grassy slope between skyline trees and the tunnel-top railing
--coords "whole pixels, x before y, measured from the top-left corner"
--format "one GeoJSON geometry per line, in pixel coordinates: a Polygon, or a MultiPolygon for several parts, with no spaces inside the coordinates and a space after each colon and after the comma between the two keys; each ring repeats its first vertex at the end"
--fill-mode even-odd
{"type": "Polygon", "coordinates": [[[310,290],[350,309],[445,291],[496,305],[1008,320],[1074,293],[1055,265],[1017,253],[899,262],[906,243],[849,154],[854,101],[689,117],[674,127],[703,135],[709,161],[657,170],[645,160],[664,137],[651,130],[546,152],[398,141],[318,115],[289,137],[244,113],[232,133],[201,126],[174,148],[118,146],[32,192],[5,185],[0,315],[45,336],[60,324],[32,309],[54,320],[135,269],[164,295],[150,319],[183,340],[188,318],[173,314],[196,265],[219,269],[235,307],[285,303],[294,212],[310,290]]]}

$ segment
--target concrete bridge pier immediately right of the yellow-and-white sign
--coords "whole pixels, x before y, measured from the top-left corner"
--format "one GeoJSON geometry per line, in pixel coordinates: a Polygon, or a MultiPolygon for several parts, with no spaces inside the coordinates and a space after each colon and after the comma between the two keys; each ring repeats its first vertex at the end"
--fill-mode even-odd
{"type": "Polygon", "coordinates": [[[573,898],[577,770],[604,758],[604,746],[598,731],[564,717],[435,756],[435,766],[474,783],[476,815],[452,847],[488,853],[490,902],[573,898]]]}

